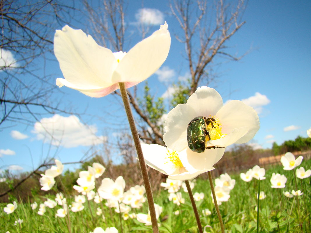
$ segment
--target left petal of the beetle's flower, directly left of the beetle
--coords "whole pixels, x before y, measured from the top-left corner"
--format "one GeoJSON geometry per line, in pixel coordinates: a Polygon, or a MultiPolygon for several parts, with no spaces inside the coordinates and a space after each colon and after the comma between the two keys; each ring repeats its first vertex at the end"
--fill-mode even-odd
{"type": "Polygon", "coordinates": [[[165,121],[163,141],[168,148],[182,151],[188,147],[187,127],[189,122],[198,117],[195,110],[188,104],[179,104],[169,111],[165,121]]]}

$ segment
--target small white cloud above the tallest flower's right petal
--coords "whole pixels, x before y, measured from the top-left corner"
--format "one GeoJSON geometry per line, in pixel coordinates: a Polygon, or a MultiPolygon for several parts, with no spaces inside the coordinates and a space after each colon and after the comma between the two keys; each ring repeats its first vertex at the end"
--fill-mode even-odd
{"type": "Polygon", "coordinates": [[[135,18],[138,22],[147,25],[164,24],[164,15],[161,11],[151,8],[142,8],[137,11],[135,18]]]}

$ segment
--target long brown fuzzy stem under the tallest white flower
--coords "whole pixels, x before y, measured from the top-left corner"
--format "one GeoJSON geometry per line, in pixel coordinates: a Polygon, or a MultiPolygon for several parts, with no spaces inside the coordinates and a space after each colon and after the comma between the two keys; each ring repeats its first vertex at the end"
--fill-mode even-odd
{"type": "Polygon", "coordinates": [[[131,132],[132,132],[132,136],[133,136],[133,140],[134,140],[134,144],[135,144],[135,148],[136,148],[136,152],[137,152],[137,157],[138,157],[138,161],[139,161],[140,170],[142,171],[142,179],[144,181],[144,185],[145,185],[145,189],[146,189],[147,201],[148,201],[150,217],[151,217],[152,230],[153,230],[153,233],[159,233],[151,185],[150,185],[150,181],[149,181],[149,177],[148,177],[145,159],[144,159],[144,156],[142,153],[142,147],[140,145],[140,141],[139,141],[139,137],[138,137],[138,132],[137,132],[137,129],[135,126],[134,117],[133,117],[133,114],[131,111],[130,102],[128,100],[128,93],[127,93],[127,90],[125,88],[125,84],[123,82],[119,83],[119,88],[120,88],[125,112],[126,112],[126,115],[128,116],[128,123],[129,123],[130,128],[131,128],[131,132]]]}

